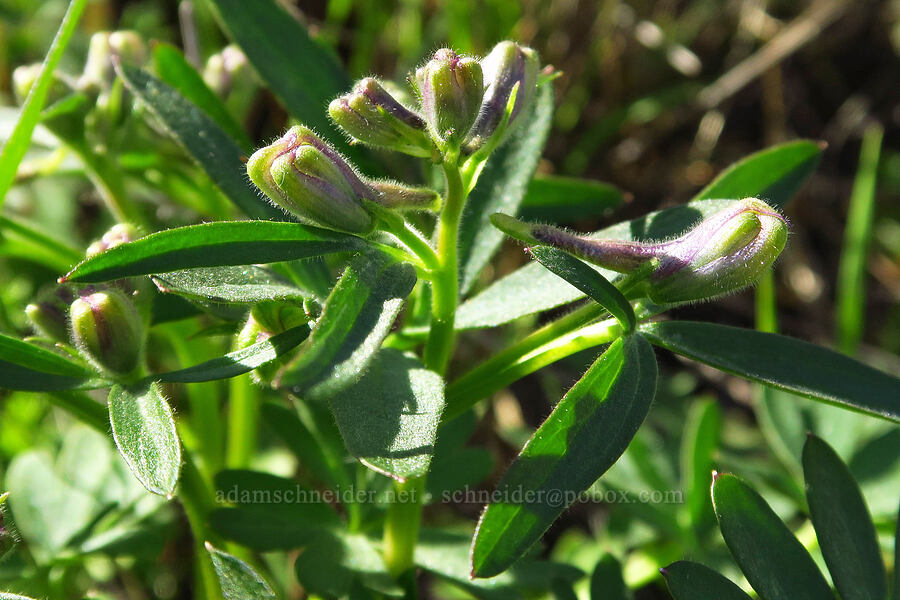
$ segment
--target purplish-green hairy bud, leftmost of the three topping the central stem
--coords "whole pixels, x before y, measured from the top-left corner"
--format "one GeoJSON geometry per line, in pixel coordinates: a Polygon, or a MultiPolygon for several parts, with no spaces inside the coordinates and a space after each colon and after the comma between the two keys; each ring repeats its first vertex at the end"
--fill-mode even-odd
{"type": "Polygon", "coordinates": [[[328,106],[328,114],[360,143],[413,156],[431,156],[425,121],[372,77],[359,81],[351,93],[335,98],[328,106]]]}

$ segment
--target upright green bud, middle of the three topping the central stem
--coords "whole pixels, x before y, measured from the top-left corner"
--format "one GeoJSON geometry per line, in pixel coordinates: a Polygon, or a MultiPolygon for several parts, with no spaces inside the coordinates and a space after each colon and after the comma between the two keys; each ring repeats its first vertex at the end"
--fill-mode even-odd
{"type": "Polygon", "coordinates": [[[484,96],[481,65],[442,48],[416,71],[416,87],[435,143],[441,150],[458,147],[472,128],[484,96]]]}

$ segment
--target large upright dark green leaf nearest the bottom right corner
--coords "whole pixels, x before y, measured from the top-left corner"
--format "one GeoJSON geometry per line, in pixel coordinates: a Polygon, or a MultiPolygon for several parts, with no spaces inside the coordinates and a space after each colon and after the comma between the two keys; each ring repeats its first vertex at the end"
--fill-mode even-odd
{"type": "Polygon", "coordinates": [[[816,538],[840,597],[887,597],[872,516],[847,465],[821,438],[810,435],[803,447],[803,475],[816,538]]]}

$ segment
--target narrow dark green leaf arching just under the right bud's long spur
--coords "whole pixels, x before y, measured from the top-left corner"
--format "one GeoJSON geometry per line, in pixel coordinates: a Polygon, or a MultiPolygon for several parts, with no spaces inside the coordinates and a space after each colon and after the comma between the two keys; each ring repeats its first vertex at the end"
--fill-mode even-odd
{"type": "Polygon", "coordinates": [[[631,303],[603,275],[574,256],[549,246],[532,248],[531,255],[554,275],[565,279],[609,311],[622,325],[625,333],[634,331],[637,319],[631,303]]]}

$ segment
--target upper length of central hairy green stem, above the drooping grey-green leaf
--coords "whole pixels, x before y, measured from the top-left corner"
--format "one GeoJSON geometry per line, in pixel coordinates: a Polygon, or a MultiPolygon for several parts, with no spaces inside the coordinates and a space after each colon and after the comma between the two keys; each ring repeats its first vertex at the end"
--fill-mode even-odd
{"type": "Polygon", "coordinates": [[[465,187],[459,168],[444,163],[447,197],[438,222],[438,259],[440,266],[432,279],[431,328],[425,343],[425,366],[436,373],[447,370],[455,339],[453,325],[459,295],[457,243],[459,220],[466,202],[465,187]]]}

